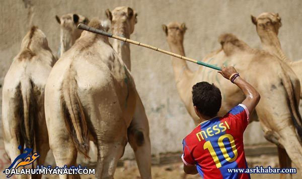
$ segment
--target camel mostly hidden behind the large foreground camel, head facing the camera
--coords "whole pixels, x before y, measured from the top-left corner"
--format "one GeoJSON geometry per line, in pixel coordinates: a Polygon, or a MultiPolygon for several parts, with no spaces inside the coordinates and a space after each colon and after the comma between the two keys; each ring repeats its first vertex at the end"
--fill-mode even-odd
{"type": "MultiPolygon", "coordinates": [[[[111,21],[111,31],[122,37],[130,38],[137,23],[137,14],[128,7],[118,7],[112,12],[106,10],[106,16],[111,21]]],[[[130,70],[130,48],[128,43],[113,40],[113,49],[130,70]]],[[[128,128],[129,143],[135,153],[135,158],[142,178],[151,177],[151,149],[149,139],[148,119],[139,95],[133,120],[128,128]],[[141,141],[144,141],[143,143],[141,141]]]]}

